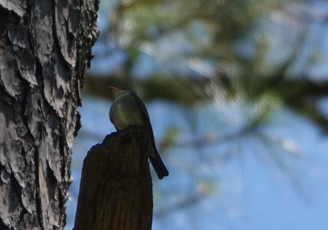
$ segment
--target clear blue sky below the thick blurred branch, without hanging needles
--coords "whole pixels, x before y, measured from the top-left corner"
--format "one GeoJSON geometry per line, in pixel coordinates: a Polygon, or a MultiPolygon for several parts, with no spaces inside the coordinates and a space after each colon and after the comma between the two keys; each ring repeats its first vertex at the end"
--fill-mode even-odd
{"type": "MultiPolygon", "coordinates": [[[[83,107],[79,109],[83,127],[73,147],[74,182],[70,187],[72,203],[67,203],[66,229],[72,229],[73,226],[82,161],[92,145],[101,142],[103,137],[115,131],[108,119],[109,107],[110,101],[85,97],[83,107]]],[[[182,116],[166,118],[172,110],[177,114],[181,112],[179,107],[171,103],[153,101],[148,104],[148,110],[154,124],[155,136],[161,136],[161,129],[168,123],[183,123],[183,120],[180,120],[182,116]]],[[[213,171],[209,175],[217,177],[219,189],[195,205],[173,210],[172,214],[163,218],[154,218],[153,229],[203,229],[204,226],[206,229],[326,229],[327,139],[312,122],[284,108],[277,112],[274,122],[269,126],[272,126],[268,128],[271,133],[295,141],[306,156],[306,160],[295,160],[293,163],[301,168],[295,172],[300,177],[304,195],[294,189],[285,174],[270,165],[270,160],[259,160],[259,154],[267,155],[266,150],[258,147],[256,138],[249,137],[240,143],[241,155],[232,157],[219,167],[204,164],[205,167],[209,165],[211,172],[213,171]],[[194,228],[195,223],[199,225],[198,228],[194,228]]],[[[221,148],[221,151],[223,149],[221,148]]],[[[212,153],[217,150],[220,150],[220,147],[212,146],[204,147],[202,151],[212,153]]],[[[160,196],[163,199],[178,200],[183,193],[190,195],[188,193],[193,191],[193,183],[190,182],[192,179],[188,173],[175,165],[174,158],[189,156],[191,167],[196,172],[203,171],[202,164],[192,152],[187,148],[173,149],[169,154],[166,153],[163,159],[171,174],[165,180],[154,182],[155,193],[165,190],[167,186],[176,187],[180,193],[172,192],[170,198],[170,191],[166,191],[165,196],[160,196]]],[[[201,176],[202,173],[196,175],[201,176]]],[[[153,180],[157,178],[154,177],[153,180]]],[[[154,196],[156,197],[156,194],[154,196]]],[[[154,210],[158,206],[162,207],[165,202],[166,200],[155,200],[154,210]]]]}

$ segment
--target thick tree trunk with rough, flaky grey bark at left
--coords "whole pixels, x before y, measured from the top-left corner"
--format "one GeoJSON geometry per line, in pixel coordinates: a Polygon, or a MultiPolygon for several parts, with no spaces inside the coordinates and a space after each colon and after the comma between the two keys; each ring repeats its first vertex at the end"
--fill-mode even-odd
{"type": "Polygon", "coordinates": [[[0,229],[63,229],[97,0],[0,0],[0,229]]]}

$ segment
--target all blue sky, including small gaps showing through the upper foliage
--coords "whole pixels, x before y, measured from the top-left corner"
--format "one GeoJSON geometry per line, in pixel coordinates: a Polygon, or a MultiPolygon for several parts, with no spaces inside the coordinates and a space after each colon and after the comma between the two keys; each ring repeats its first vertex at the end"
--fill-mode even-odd
{"type": "MultiPolygon", "coordinates": [[[[323,1],[313,3],[311,15],[324,15],[328,5],[323,1]]],[[[300,12],[304,10],[295,6],[291,8],[300,12]]],[[[281,28],[275,28],[272,24],[284,18],[276,17],[278,14],[272,15],[273,18],[264,20],[259,26],[268,27],[269,35],[272,35],[272,50],[269,55],[279,54],[278,58],[285,58],[287,53],[293,50],[292,46],[286,43],[282,48],[281,40],[274,37],[281,28]]],[[[100,13],[100,29],[106,28],[106,18],[104,13],[100,13]]],[[[286,23],[286,26],[289,24],[286,23]]],[[[306,38],[308,41],[300,55],[310,55],[311,52],[308,51],[315,47],[319,61],[304,69],[307,57],[298,57],[293,70],[305,71],[315,79],[326,78],[327,25],[318,20],[311,24],[309,31],[310,34],[306,38]]],[[[295,33],[290,31],[288,34],[282,34],[288,40],[295,33]]],[[[183,39],[179,36],[175,38],[175,41],[182,44],[180,48],[183,50],[183,39]]],[[[163,38],[160,44],[165,43],[170,41],[163,38]]],[[[240,47],[238,44],[236,41],[236,52],[252,55],[251,41],[247,47],[240,47]]],[[[189,48],[188,52],[192,52],[189,48]]],[[[99,43],[94,52],[97,50],[107,50],[108,53],[108,57],[105,55],[96,65],[94,62],[91,65],[100,73],[113,70],[125,61],[124,52],[116,50],[113,54],[113,49],[106,48],[106,44],[99,43]]],[[[154,61],[146,52],[140,54],[139,61],[140,65],[133,69],[136,77],[147,77],[158,68],[165,69],[165,66],[154,61]]],[[[180,72],[188,72],[188,68],[183,65],[174,67],[180,72]]],[[[213,63],[205,61],[201,67],[202,70],[211,72],[213,63]]],[[[271,66],[271,69],[274,70],[274,67],[271,66]]],[[[221,102],[211,101],[186,108],[168,101],[150,101],[147,108],[155,139],[159,142],[165,132],[172,128],[178,129],[174,138],[180,142],[192,142],[194,138],[207,134],[222,137],[242,127],[245,120],[247,121],[245,112],[255,111],[252,104],[239,101],[220,104],[221,102]],[[193,119],[197,122],[191,124],[190,120],[193,119]]],[[[319,103],[328,115],[328,98],[323,98],[319,103]]],[[[110,104],[109,100],[84,95],[83,107],[79,108],[82,128],[73,146],[74,182],[70,186],[72,202],[67,203],[66,230],[73,228],[83,159],[92,145],[103,141],[107,134],[115,131],[108,117],[110,104]]],[[[175,203],[202,190],[208,190],[209,193],[186,208],[172,208],[169,214],[160,218],[155,215],[153,229],[325,230],[328,226],[327,150],[327,135],[323,134],[316,124],[282,104],[275,108],[257,133],[235,141],[217,142],[198,148],[188,145],[183,148],[169,148],[161,155],[168,166],[170,176],[161,181],[156,177],[153,179],[154,211],[170,210],[175,203]],[[264,137],[279,144],[265,145],[262,139],[264,137]],[[225,159],[226,156],[228,159],[225,159]],[[277,156],[281,157],[281,164],[274,160],[277,156]],[[286,168],[282,165],[286,165],[286,168]]]]}

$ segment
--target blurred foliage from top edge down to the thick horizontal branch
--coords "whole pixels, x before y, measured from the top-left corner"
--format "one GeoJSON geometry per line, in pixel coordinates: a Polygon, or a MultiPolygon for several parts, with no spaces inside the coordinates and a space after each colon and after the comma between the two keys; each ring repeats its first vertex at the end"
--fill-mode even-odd
{"type": "MultiPolygon", "coordinates": [[[[124,61],[110,71],[89,72],[86,92],[108,98],[104,85],[126,86],[145,100],[159,97],[190,104],[211,99],[217,90],[228,91],[227,100],[237,93],[254,100],[270,91],[328,131],[327,119],[314,102],[316,96],[328,93],[327,82],[314,81],[305,73],[318,56],[312,47],[304,48],[311,15],[290,12],[297,3],[307,4],[291,0],[103,3],[101,9],[111,13],[100,42],[114,44],[113,52],[124,53],[124,61]],[[299,59],[305,59],[301,69],[295,68],[299,59]]],[[[99,58],[108,54],[101,53],[99,58]]]]}

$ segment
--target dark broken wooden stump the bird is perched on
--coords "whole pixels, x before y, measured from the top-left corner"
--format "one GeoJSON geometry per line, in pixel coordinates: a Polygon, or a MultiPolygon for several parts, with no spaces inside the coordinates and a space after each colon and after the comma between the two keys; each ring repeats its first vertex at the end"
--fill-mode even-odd
{"type": "Polygon", "coordinates": [[[130,127],[106,136],[83,163],[74,230],[150,230],[147,137],[130,127]]]}

